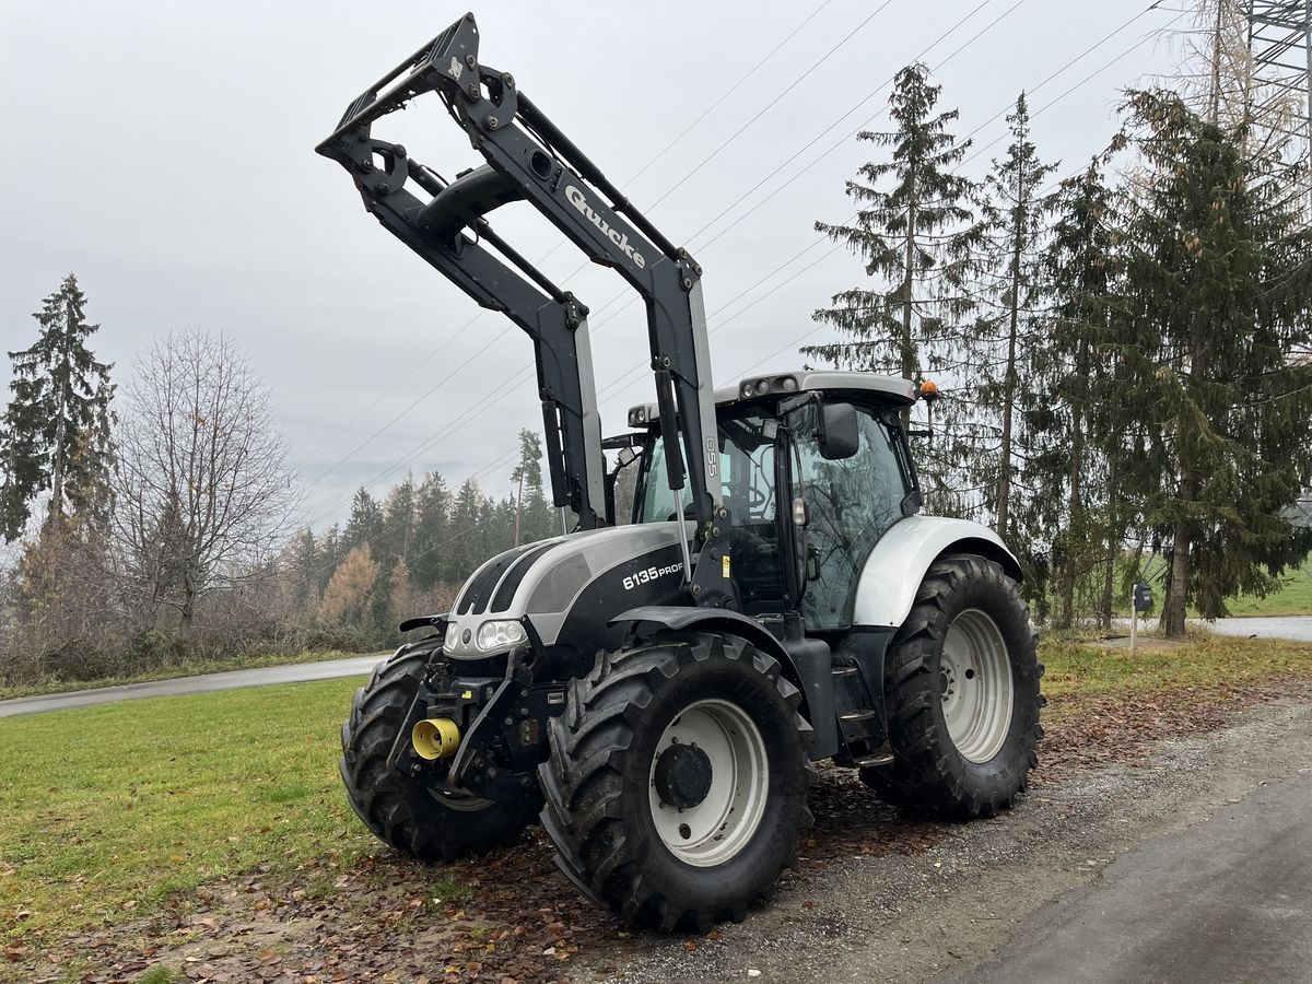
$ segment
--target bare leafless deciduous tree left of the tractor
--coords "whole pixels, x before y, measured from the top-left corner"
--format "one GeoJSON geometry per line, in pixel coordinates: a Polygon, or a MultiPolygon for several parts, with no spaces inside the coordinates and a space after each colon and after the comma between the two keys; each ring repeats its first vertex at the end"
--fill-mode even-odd
{"type": "Polygon", "coordinates": [[[261,576],[294,525],[298,491],[269,391],[222,335],[188,329],[134,366],[119,428],[115,531],[139,604],[177,613],[261,576]]]}

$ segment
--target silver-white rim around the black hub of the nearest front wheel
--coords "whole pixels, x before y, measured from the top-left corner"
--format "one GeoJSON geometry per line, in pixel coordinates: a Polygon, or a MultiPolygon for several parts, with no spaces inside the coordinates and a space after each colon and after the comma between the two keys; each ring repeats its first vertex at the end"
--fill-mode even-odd
{"type": "Polygon", "coordinates": [[[689,865],[712,867],[735,857],[756,834],[765,815],[770,769],[756,723],[728,701],[689,705],[665,728],[652,756],[649,802],[656,833],[689,865]],[[657,791],[656,766],[677,745],[695,745],[710,761],[710,787],[695,806],[676,807],[657,791]]]}

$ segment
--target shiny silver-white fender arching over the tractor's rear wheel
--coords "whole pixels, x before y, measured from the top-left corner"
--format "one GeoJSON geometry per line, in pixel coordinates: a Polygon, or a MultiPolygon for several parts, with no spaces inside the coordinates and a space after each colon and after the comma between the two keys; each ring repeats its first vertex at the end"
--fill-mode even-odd
{"type": "Polygon", "coordinates": [[[977,554],[1019,581],[1021,564],[1002,538],[970,520],[911,516],[886,533],[866,558],[857,581],[853,623],[899,627],[916,604],[916,589],[943,554],[977,554]]]}

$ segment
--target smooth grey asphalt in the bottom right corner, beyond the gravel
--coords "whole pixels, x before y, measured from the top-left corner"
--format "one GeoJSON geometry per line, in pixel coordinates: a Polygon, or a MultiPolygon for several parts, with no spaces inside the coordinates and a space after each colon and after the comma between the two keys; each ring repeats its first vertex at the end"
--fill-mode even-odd
{"type": "Polygon", "coordinates": [[[1312,777],[1122,854],[1036,912],[976,984],[1312,979],[1312,777]]]}

